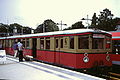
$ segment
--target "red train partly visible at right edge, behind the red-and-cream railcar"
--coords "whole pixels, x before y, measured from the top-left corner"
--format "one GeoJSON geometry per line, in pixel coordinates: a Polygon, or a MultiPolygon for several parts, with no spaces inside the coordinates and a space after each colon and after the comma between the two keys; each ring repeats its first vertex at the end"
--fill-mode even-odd
{"type": "Polygon", "coordinates": [[[112,31],[112,63],[115,65],[120,65],[120,31],[112,31]]]}

